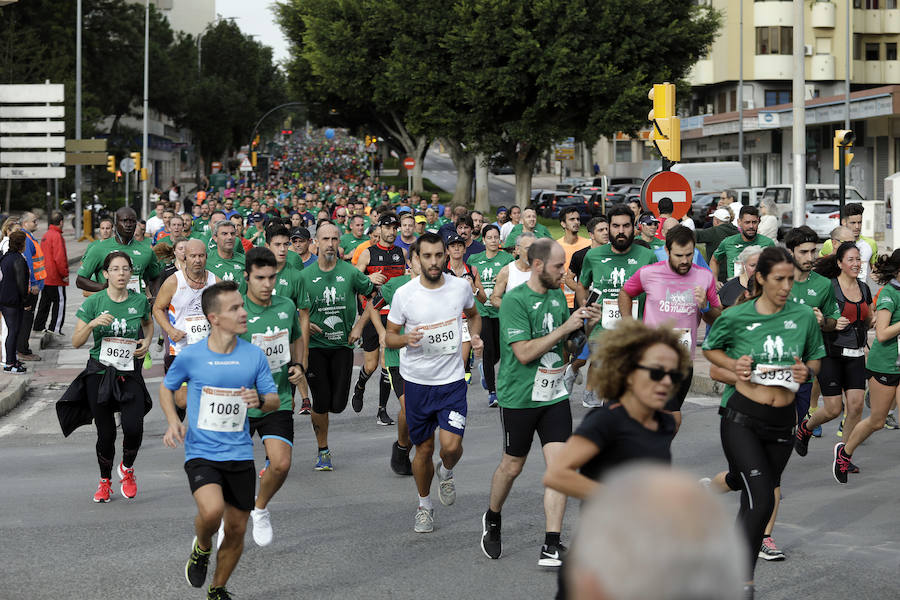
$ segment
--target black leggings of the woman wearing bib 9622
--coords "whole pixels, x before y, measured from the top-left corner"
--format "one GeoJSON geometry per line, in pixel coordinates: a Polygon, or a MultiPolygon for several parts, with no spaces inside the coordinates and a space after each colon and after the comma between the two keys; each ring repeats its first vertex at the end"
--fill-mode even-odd
{"type": "MultiPolygon", "coordinates": [[[[111,400],[100,404],[99,390],[102,374],[88,375],[85,379],[85,391],[94,425],[97,427],[97,463],[100,465],[100,477],[109,479],[112,476],[113,459],[116,456],[116,404],[111,400]]],[[[131,400],[121,406],[122,413],[122,464],[130,468],[141,448],[144,437],[144,390],[134,380],[126,379],[131,400]],[[131,388],[134,389],[131,389],[131,388]]]]}

